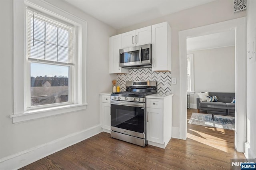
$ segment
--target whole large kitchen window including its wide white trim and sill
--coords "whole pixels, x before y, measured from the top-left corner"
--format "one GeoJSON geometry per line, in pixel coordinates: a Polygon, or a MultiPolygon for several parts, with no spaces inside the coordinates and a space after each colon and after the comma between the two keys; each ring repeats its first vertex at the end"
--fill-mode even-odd
{"type": "Polygon", "coordinates": [[[86,109],[87,22],[14,0],[13,123],[86,109]]]}

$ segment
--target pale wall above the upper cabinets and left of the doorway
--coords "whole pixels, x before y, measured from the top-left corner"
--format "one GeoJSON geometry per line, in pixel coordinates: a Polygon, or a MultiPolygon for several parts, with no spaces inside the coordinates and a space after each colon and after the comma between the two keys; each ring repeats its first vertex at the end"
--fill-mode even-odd
{"type": "Polygon", "coordinates": [[[190,28],[206,26],[226,20],[240,18],[246,16],[246,12],[238,12],[234,14],[233,0],[216,0],[208,4],[176,12],[161,18],[156,18],[147,22],[142,22],[134,26],[122,28],[118,30],[118,34],[128,32],[138,28],[158,24],[160,22],[168,22],[172,28],[172,77],[177,78],[177,84],[172,85],[173,108],[172,108],[172,126],[180,127],[180,81],[179,81],[179,40],[178,32],[190,28]]]}

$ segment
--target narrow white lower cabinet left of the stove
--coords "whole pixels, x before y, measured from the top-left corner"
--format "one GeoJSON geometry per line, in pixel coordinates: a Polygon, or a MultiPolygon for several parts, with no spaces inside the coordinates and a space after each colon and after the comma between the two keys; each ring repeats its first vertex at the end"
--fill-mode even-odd
{"type": "Polygon", "coordinates": [[[102,95],[101,97],[101,115],[102,128],[104,132],[110,133],[111,115],[110,115],[110,95],[102,95]]]}

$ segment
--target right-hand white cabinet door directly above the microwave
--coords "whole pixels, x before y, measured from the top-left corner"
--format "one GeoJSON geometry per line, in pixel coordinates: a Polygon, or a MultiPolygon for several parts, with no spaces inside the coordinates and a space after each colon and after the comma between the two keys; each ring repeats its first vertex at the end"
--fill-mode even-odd
{"type": "Polygon", "coordinates": [[[135,30],[135,45],[152,43],[151,26],[135,30]]]}

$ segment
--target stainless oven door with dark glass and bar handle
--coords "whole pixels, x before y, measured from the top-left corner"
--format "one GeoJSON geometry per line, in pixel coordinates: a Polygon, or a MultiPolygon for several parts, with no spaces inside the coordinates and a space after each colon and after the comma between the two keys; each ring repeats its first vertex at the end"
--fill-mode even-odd
{"type": "Polygon", "coordinates": [[[111,130],[146,138],[146,104],[111,101],[111,130]]]}

